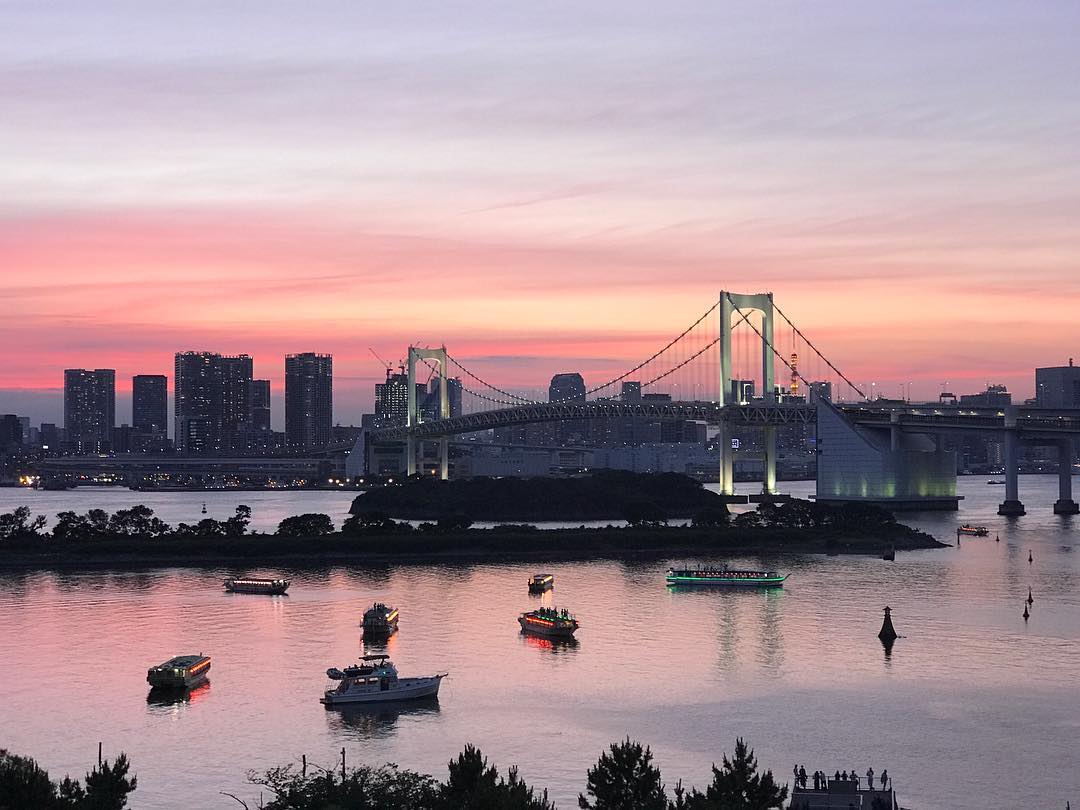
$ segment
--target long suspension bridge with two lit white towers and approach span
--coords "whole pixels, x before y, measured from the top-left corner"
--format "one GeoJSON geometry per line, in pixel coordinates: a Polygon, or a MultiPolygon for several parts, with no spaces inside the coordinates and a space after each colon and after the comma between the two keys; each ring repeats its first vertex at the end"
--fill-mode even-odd
{"type": "MultiPolygon", "coordinates": [[[[1049,418],[1038,409],[928,413],[901,400],[867,395],[787,316],[771,293],[721,292],[705,311],[664,346],[600,384],[562,399],[542,400],[490,381],[476,364],[445,346],[409,347],[407,418],[365,431],[353,456],[368,462],[379,446],[401,445],[405,471],[417,471],[424,443],[438,445],[438,473],[448,476],[453,436],[538,423],[636,420],[697,421],[712,426],[720,451],[719,485],[733,497],[731,431],[761,429],[761,495],[778,496],[777,430],[814,424],[818,498],[883,503],[893,508],[956,509],[956,457],[942,447],[950,432],[995,431],[1005,445],[1007,492],[1002,514],[1023,514],[1017,491],[1017,446],[1054,444],[1071,470],[1080,413],[1049,418]],[[438,413],[417,400],[421,377],[437,380],[438,413]],[[447,379],[460,380],[460,413],[450,413],[447,379]],[[888,404],[882,404],[887,402],[888,404]],[[1032,413],[1035,411],[1035,413],[1032,413]]],[[[873,391],[873,384],[872,384],[873,391]]],[[[876,392],[875,392],[876,393],[876,392]]],[[[1061,476],[1055,511],[1075,513],[1071,476],[1061,476]]]]}

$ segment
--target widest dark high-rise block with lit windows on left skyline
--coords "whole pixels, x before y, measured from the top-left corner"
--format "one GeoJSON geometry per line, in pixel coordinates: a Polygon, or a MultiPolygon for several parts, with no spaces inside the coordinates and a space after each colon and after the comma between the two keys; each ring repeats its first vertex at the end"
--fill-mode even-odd
{"type": "Polygon", "coordinates": [[[251,356],[177,352],[173,380],[177,453],[220,456],[251,449],[251,356]]]}

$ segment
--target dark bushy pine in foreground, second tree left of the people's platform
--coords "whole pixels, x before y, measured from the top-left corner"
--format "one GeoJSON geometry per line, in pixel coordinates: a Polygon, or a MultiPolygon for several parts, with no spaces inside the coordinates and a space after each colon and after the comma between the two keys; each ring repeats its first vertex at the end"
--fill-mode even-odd
{"type": "Polygon", "coordinates": [[[589,769],[584,795],[578,807],[590,810],[667,810],[667,795],[652,752],[627,737],[600,754],[589,769]]]}

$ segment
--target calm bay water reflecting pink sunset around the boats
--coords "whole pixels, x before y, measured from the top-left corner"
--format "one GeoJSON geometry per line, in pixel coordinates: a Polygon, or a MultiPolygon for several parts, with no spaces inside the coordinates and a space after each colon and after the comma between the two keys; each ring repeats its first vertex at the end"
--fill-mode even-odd
{"type": "MultiPolygon", "coordinates": [[[[1029,514],[1015,522],[995,514],[1002,487],[960,486],[958,514],[909,522],[946,540],[958,522],[983,523],[988,540],[893,564],[727,561],[789,571],[783,590],[673,592],[664,562],[542,566],[556,578],[543,603],[581,620],[573,647],[517,632],[516,613],[541,604],[525,590],[534,565],[284,571],[294,581],[285,597],[224,594],[226,570],[2,575],[0,747],[54,777],[81,775],[98,740],[126,751],[136,808],[237,806],[219,791],[255,806],[248,769],[301,754],[329,766],[342,746],[352,762],[443,777],[467,742],[570,808],[586,768],[626,734],[652,746],[670,785],[704,785],[744,735],[781,778],[796,761],[809,771],[888,768],[904,805],[919,810],[1077,804],[1080,522],[1050,513],[1049,476],[1022,478],[1029,514]],[[450,671],[437,704],[319,703],[326,667],[363,652],[360,617],[375,599],[402,610],[401,632],[377,648],[402,674],[450,671]],[[890,657],[876,637],[886,604],[902,636],[890,657]],[[189,701],[148,702],[146,667],[198,651],[214,657],[210,685],[189,701]]],[[[176,523],[198,519],[203,500],[215,517],[244,502],[254,525],[270,528],[299,512],[340,521],[350,502],[337,492],[27,495],[0,490],[0,511],[149,501],[176,523]]]]}

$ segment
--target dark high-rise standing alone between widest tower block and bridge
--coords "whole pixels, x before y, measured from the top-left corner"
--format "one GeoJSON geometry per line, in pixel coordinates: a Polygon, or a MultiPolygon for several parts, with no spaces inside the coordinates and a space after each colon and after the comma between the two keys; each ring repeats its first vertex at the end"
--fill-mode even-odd
{"type": "Polygon", "coordinates": [[[330,443],[334,426],[334,359],[329,354],[285,356],[285,444],[289,448],[330,443]]]}

